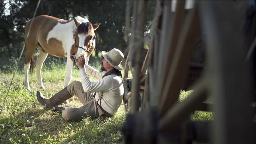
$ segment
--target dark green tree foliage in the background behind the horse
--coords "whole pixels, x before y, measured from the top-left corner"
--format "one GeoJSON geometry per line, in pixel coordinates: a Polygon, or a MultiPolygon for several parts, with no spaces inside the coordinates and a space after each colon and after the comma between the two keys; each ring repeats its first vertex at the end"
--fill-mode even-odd
{"type": "MultiPolygon", "coordinates": [[[[153,19],[155,1],[148,2],[145,31],[153,19]]],[[[37,1],[0,1],[0,65],[10,58],[18,58],[24,44],[24,25],[36,9],[37,1]]],[[[101,50],[118,48],[123,51],[127,44],[124,37],[126,1],[46,1],[42,0],[36,16],[51,15],[61,19],[72,16],[88,16],[92,24],[101,23],[96,33],[96,56],[101,50]]],[[[132,12],[132,11],[131,11],[132,12]]],[[[131,19],[132,20],[132,19],[131,19]]],[[[25,52],[22,55],[24,62],[25,52]]],[[[58,59],[58,58],[56,58],[58,59]]],[[[22,64],[23,65],[23,64],[22,64]]]]}

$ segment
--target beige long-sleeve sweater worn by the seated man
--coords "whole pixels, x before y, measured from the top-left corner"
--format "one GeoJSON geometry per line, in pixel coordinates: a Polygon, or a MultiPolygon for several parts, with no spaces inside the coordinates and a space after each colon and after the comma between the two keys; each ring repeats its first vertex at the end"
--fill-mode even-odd
{"type": "Polygon", "coordinates": [[[124,95],[124,86],[122,84],[122,79],[115,74],[111,74],[109,76],[105,76],[103,79],[102,77],[106,74],[106,71],[98,71],[85,64],[85,68],[81,68],[80,76],[82,80],[83,90],[85,92],[97,92],[95,99],[98,101],[99,94],[103,92],[103,98],[98,101],[98,104],[106,110],[111,115],[115,114],[118,110],[119,106],[121,105],[122,98],[124,95]],[[94,77],[97,79],[97,82],[91,82],[87,76],[94,77]]]}

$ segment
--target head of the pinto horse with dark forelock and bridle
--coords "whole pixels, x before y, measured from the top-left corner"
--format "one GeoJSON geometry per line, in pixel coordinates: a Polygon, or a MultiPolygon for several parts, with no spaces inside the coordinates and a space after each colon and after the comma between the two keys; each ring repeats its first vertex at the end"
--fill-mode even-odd
{"type": "Polygon", "coordinates": [[[97,30],[100,24],[92,24],[88,19],[79,22],[73,17],[73,20],[76,24],[76,30],[74,31],[74,46],[77,48],[76,58],[83,55],[83,53],[87,53],[86,57],[88,57],[95,49],[96,37],[94,31],[97,30]]]}

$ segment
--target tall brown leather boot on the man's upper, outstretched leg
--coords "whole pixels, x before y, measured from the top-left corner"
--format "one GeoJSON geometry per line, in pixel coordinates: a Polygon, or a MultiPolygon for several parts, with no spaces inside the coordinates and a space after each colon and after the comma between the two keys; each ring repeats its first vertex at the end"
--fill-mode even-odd
{"type": "Polygon", "coordinates": [[[72,95],[70,95],[67,91],[67,87],[65,87],[49,99],[45,98],[45,96],[43,96],[43,94],[39,91],[37,91],[36,96],[40,104],[45,105],[46,109],[51,109],[52,107],[55,107],[72,97],[72,95]]]}

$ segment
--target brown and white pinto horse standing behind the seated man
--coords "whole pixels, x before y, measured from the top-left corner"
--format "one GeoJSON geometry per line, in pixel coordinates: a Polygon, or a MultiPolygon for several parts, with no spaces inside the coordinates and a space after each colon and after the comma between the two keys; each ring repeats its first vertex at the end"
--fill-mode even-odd
{"type": "MultiPolygon", "coordinates": [[[[31,20],[25,26],[25,36],[28,34],[30,23],[31,20]]],[[[71,80],[73,67],[73,62],[70,59],[71,53],[77,52],[77,54],[81,54],[83,50],[86,50],[85,54],[87,54],[87,58],[89,59],[89,55],[93,52],[96,43],[94,31],[99,25],[92,25],[88,19],[80,16],[73,17],[70,21],[48,15],[35,17],[26,42],[27,53],[24,66],[25,88],[30,91],[28,71],[33,66],[33,53],[36,47],[39,48],[36,70],[37,83],[40,85],[40,88],[45,89],[42,82],[41,70],[48,53],[58,57],[67,57],[67,72],[65,76],[65,86],[67,86],[71,80]]]]}

